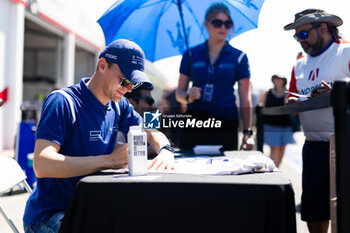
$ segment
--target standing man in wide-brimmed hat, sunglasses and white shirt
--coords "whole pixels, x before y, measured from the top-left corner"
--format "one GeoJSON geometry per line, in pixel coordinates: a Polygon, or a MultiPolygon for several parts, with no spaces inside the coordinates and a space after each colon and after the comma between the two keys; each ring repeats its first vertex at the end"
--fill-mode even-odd
{"type": "MultiPolygon", "coordinates": [[[[292,71],[289,90],[314,97],[329,93],[336,80],[350,77],[350,44],[342,40],[338,26],[343,21],[319,9],[295,14],[295,21],[284,27],[295,30],[305,56],[298,59],[292,71]],[[316,92],[320,87],[323,91],[316,92]]],[[[288,102],[297,102],[290,95],[288,102]]],[[[311,233],[326,233],[330,219],[329,138],[334,132],[332,109],[318,109],[299,114],[305,134],[301,219],[311,233]]]]}

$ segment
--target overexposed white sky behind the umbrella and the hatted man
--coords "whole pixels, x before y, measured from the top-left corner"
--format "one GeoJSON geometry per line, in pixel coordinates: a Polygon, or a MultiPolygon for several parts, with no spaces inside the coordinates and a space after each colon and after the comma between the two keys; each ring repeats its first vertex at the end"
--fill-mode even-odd
{"type": "MultiPolygon", "coordinates": [[[[339,31],[350,41],[349,0],[265,0],[258,28],[233,38],[230,44],[244,51],[251,68],[251,83],[255,89],[272,87],[273,74],[290,74],[296,56],[302,51],[293,38],[294,30],[283,27],[294,21],[294,14],[307,8],[318,8],[342,18],[339,31]]],[[[156,67],[167,77],[170,88],[177,86],[181,56],[156,61],[156,67]]]]}

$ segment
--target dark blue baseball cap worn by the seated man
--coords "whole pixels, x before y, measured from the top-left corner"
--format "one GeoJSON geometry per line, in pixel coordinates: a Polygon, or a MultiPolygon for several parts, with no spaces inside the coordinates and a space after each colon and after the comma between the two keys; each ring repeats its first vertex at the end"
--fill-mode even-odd
{"type": "Polygon", "coordinates": [[[135,42],[126,39],[115,40],[102,50],[99,58],[101,57],[108,62],[118,64],[121,72],[130,82],[153,86],[144,72],[145,53],[135,42]]]}

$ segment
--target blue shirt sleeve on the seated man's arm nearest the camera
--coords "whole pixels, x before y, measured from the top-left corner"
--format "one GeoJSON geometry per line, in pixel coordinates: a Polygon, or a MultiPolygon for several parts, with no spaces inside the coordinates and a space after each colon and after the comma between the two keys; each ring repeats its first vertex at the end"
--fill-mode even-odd
{"type": "Polygon", "coordinates": [[[50,94],[43,105],[36,139],[47,139],[62,146],[73,125],[70,105],[60,93],[50,94]]]}

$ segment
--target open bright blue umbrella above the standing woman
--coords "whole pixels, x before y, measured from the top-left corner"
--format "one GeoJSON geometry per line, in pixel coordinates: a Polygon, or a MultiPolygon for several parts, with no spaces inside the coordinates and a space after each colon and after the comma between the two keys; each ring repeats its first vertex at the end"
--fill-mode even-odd
{"type": "MultiPolygon", "coordinates": [[[[130,38],[157,61],[183,54],[206,40],[206,9],[213,0],[117,0],[98,20],[106,44],[130,38]]],[[[234,35],[257,28],[264,0],[221,0],[230,10],[234,35]]]]}

